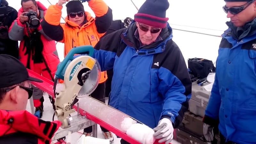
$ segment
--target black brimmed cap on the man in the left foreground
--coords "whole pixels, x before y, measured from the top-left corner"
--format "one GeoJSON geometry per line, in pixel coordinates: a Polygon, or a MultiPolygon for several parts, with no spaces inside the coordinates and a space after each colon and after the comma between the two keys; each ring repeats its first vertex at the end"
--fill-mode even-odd
{"type": "Polygon", "coordinates": [[[29,77],[27,68],[20,60],[7,54],[0,54],[0,88],[20,84],[26,80],[43,82],[34,77],[29,77]]]}

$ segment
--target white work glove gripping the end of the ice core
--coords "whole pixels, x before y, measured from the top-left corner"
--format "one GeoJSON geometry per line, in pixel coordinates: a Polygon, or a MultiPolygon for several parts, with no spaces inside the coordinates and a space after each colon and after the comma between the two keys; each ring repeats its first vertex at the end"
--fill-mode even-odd
{"type": "Polygon", "coordinates": [[[158,143],[169,144],[173,139],[173,126],[169,118],[163,118],[158,122],[157,127],[153,129],[155,133],[153,136],[156,140],[160,139],[158,143]]]}

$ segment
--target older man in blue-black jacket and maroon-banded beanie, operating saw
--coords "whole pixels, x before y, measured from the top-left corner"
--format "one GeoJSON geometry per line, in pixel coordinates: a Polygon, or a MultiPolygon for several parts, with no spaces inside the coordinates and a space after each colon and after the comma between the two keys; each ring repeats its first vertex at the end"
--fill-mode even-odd
{"type": "Polygon", "coordinates": [[[128,28],[100,39],[94,51],[102,71],[114,69],[109,105],[154,128],[166,144],[188,109],[192,85],[172,41],[168,8],[168,0],[146,0],[128,28]]]}

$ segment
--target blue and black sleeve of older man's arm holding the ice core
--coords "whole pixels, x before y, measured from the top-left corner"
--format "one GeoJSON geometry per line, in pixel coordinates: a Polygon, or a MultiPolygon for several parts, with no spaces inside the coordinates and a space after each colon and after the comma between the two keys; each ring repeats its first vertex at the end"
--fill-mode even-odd
{"type": "Polygon", "coordinates": [[[160,79],[158,90],[164,97],[160,119],[170,118],[173,127],[177,128],[182,122],[184,113],[188,110],[192,83],[179,47],[174,42],[170,47],[172,49],[166,53],[167,59],[158,70],[160,79]]]}

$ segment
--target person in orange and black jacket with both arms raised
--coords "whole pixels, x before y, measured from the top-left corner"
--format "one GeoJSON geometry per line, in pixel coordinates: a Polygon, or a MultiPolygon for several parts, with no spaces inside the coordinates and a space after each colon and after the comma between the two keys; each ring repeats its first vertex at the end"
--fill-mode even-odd
{"type": "MultiPolygon", "coordinates": [[[[41,23],[44,33],[55,41],[64,43],[64,57],[68,52],[82,45],[92,45],[98,43],[108,30],[113,20],[112,10],[103,0],[83,0],[87,1],[89,7],[95,13],[93,18],[89,12],[84,11],[84,6],[79,0],[59,0],[55,5],[50,5],[41,23]],[[66,4],[68,16],[65,18],[65,23],[60,23],[61,10],[63,4],[66,4]]],[[[107,80],[107,72],[101,73],[100,84],[91,94],[105,103],[105,87],[107,80]]],[[[112,143],[114,138],[108,130],[101,127],[105,139],[109,139],[112,143]]],[[[84,129],[85,135],[92,135],[92,127],[84,129]]]]}

